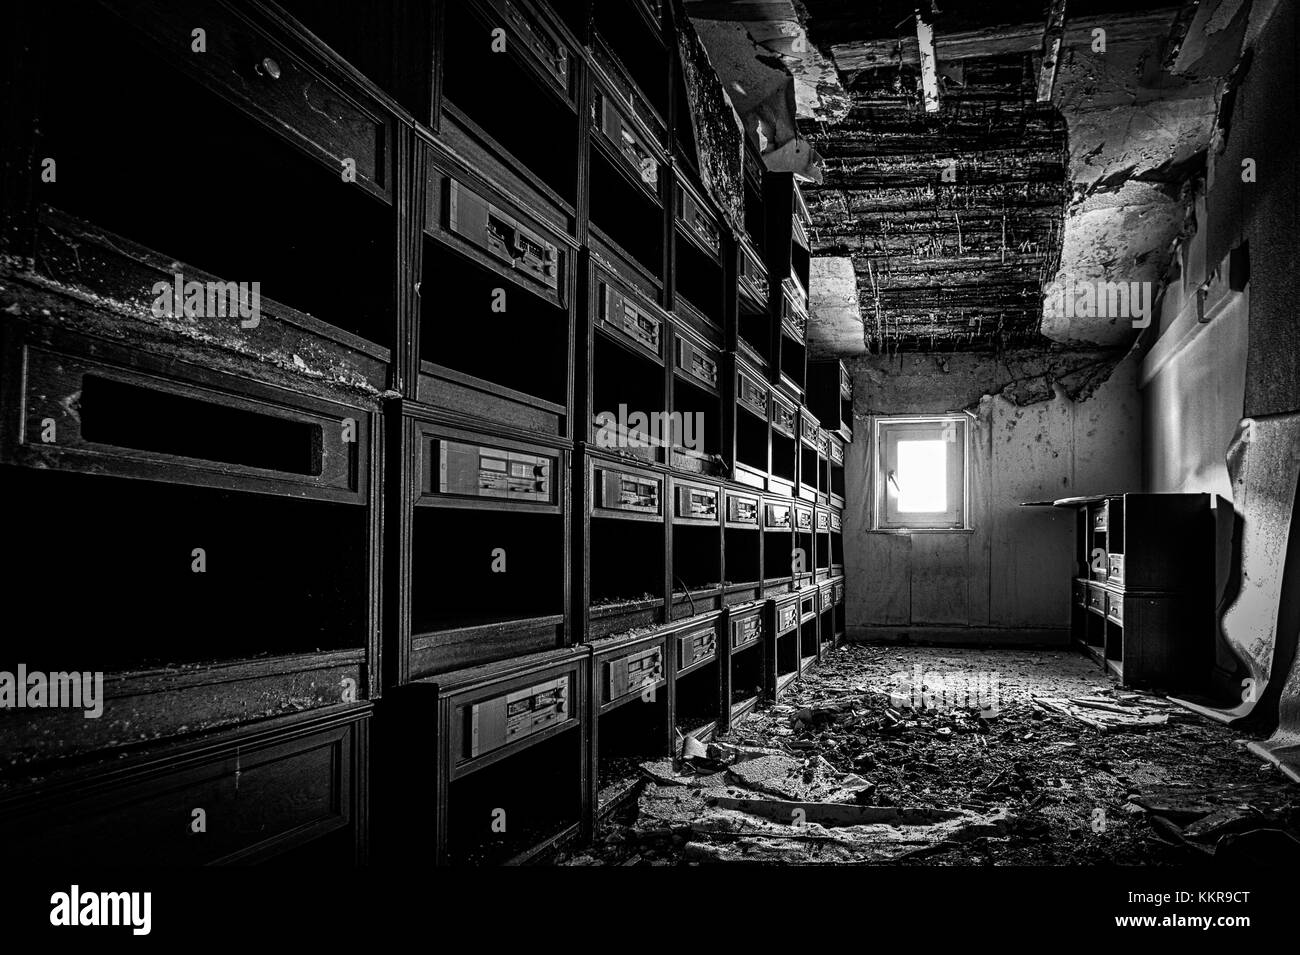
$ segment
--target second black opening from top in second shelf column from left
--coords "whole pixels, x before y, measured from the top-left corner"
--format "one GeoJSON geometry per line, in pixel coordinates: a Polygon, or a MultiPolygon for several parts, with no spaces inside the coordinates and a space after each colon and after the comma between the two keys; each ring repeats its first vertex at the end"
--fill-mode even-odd
{"type": "MultiPolygon", "coordinates": [[[[514,260],[512,260],[514,261],[514,260]]],[[[507,274],[511,262],[502,262],[507,274]]],[[[568,404],[568,311],[428,235],[420,295],[420,357],[452,373],[568,404]]],[[[560,277],[563,287],[563,277],[560,277]]]]}

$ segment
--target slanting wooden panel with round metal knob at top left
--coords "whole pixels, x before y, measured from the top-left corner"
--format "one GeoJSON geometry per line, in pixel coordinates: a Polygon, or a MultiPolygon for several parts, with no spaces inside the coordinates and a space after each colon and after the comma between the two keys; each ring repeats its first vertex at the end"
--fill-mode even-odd
{"type": "Polygon", "coordinates": [[[341,178],[343,161],[351,160],[359,181],[372,183],[382,194],[391,192],[386,121],[242,13],[216,0],[183,4],[113,0],[109,5],[155,40],[160,52],[182,70],[246,109],[273,133],[320,157],[341,178]],[[207,52],[190,52],[190,31],[195,25],[207,31],[207,52]]]}

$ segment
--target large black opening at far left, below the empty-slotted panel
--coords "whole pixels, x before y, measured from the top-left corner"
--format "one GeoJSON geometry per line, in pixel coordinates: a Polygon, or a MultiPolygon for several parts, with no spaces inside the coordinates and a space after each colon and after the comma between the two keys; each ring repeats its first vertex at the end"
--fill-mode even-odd
{"type": "Polygon", "coordinates": [[[365,646],[364,508],[4,468],[6,586],[32,670],[121,672],[365,646]],[[26,618],[26,620],[23,620],[26,618]],[[130,621],[125,630],[105,621],[130,621]]]}

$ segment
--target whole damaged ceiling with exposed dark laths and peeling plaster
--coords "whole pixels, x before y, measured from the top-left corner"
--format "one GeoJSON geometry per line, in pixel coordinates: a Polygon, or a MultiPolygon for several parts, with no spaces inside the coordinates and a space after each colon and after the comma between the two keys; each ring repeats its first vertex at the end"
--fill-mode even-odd
{"type": "Polygon", "coordinates": [[[814,256],[838,260],[814,266],[838,286],[810,290],[810,353],[849,356],[1130,343],[1128,317],[1067,316],[1045,292],[1093,281],[1158,287],[1226,122],[1225,81],[1271,5],[696,0],[686,9],[768,166],[803,179],[814,256]],[[918,10],[933,30],[933,112],[918,10]],[[1060,55],[1045,68],[1056,35],[1060,55]],[[1050,99],[1039,101],[1040,91],[1050,99]],[[846,301],[850,269],[857,309],[846,301]]]}

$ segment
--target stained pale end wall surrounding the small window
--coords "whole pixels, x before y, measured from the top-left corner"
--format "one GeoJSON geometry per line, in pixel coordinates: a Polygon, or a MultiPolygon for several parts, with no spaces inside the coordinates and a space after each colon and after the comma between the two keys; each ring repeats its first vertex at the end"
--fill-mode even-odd
{"type": "MultiPolygon", "coordinates": [[[[1053,359],[1013,372],[1006,360],[952,355],[853,363],[854,442],[846,457],[845,561],[850,637],[954,643],[1061,643],[1070,621],[1072,512],[1022,502],[1139,487],[1136,361],[1088,396],[1060,385],[1017,405],[1053,359]],[[970,408],[970,533],[871,530],[871,429],[878,414],[970,408]]],[[[1096,355],[1091,356],[1092,360],[1096,355]]],[[[1113,361],[1113,356],[1110,361],[1113,361]]],[[[1075,356],[1075,365],[1079,356],[1075,356]]],[[[1086,359],[1083,364],[1088,364],[1086,359]]],[[[1095,386],[1095,390],[1092,387],[1095,386]]]]}

